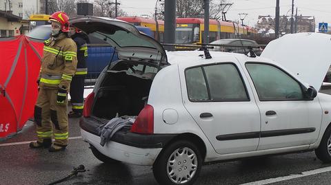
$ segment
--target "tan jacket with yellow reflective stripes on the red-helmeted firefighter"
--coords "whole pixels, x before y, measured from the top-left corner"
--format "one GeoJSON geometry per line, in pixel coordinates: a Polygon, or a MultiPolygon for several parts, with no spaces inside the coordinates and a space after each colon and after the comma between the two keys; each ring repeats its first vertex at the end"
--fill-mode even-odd
{"type": "Polygon", "coordinates": [[[72,39],[60,34],[51,37],[43,46],[43,58],[39,73],[41,88],[65,89],[69,91],[72,76],[77,69],[77,46],[72,39]]]}

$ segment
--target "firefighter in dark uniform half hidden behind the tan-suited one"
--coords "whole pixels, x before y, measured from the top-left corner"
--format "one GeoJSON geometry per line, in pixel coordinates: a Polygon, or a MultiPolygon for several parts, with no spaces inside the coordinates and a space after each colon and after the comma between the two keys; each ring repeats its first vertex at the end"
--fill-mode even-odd
{"type": "Polygon", "coordinates": [[[77,71],[72,78],[70,85],[70,97],[72,111],[68,114],[69,118],[80,118],[83,113],[84,107],[84,83],[86,74],[88,74],[88,68],[86,66],[86,58],[88,57],[88,45],[86,40],[88,39],[86,34],[83,34],[81,30],[70,26],[71,39],[77,45],[77,71]]]}

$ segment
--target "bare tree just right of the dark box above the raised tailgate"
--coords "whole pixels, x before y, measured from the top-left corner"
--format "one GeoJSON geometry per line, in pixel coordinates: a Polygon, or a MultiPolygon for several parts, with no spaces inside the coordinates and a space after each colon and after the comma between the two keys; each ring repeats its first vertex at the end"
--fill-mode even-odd
{"type": "MultiPolygon", "coordinates": [[[[93,14],[100,17],[115,17],[115,6],[111,3],[112,1],[109,0],[94,0],[93,14]]],[[[127,15],[127,12],[117,6],[118,17],[127,15]]]]}

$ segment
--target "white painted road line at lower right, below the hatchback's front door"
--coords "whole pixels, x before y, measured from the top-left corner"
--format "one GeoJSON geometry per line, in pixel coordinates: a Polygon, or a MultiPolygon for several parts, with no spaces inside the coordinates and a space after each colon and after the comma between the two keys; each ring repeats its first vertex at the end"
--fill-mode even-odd
{"type": "Polygon", "coordinates": [[[312,171],[304,171],[304,172],[301,172],[301,174],[292,174],[292,175],[288,175],[288,176],[285,176],[285,177],[264,179],[264,180],[260,180],[260,181],[256,181],[256,182],[248,182],[248,183],[241,184],[241,185],[271,184],[271,183],[274,183],[274,182],[281,182],[281,181],[285,181],[285,180],[289,180],[289,179],[297,179],[297,178],[300,178],[300,177],[306,177],[306,176],[309,176],[309,175],[325,173],[325,172],[328,172],[328,171],[331,171],[331,166],[325,167],[325,168],[318,168],[318,169],[312,170],[312,171]]]}

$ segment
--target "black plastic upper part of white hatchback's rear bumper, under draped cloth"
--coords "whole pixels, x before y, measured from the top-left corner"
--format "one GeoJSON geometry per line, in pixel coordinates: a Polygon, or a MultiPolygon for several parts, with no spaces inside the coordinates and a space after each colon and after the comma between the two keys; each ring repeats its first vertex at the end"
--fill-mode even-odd
{"type": "MultiPolygon", "coordinates": [[[[81,118],[79,121],[79,126],[83,131],[91,133],[98,138],[100,138],[100,135],[97,128],[101,124],[103,123],[94,118],[81,118]]],[[[139,134],[132,133],[128,129],[123,128],[117,131],[117,133],[114,133],[111,141],[141,149],[160,149],[176,135],[177,134],[139,134]]]]}

